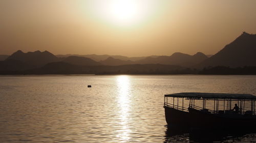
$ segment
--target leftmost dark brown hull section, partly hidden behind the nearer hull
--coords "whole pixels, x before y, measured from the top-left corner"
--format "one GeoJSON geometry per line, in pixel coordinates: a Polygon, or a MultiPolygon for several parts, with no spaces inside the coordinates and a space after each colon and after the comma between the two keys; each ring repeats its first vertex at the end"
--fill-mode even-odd
{"type": "Polygon", "coordinates": [[[168,126],[189,126],[188,112],[164,106],[165,120],[168,126]]]}

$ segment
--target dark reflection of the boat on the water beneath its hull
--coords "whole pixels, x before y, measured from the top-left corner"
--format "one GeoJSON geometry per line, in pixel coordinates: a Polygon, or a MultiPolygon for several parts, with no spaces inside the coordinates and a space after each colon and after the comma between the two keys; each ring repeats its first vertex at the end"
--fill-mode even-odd
{"type": "Polygon", "coordinates": [[[166,126],[164,142],[253,142],[255,129],[223,130],[202,129],[190,130],[183,127],[166,126]]]}

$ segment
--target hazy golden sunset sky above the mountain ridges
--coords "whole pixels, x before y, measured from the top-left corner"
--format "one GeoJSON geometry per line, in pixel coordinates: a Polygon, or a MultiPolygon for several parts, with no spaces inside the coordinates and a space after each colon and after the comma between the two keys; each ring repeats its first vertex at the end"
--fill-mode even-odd
{"type": "Polygon", "coordinates": [[[1,0],[0,54],[215,54],[256,33],[256,1],[1,0]]]}

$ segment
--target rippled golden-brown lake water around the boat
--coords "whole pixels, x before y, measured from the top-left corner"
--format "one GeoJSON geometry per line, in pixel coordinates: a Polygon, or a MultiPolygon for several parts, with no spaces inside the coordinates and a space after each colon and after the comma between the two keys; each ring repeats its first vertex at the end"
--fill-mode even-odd
{"type": "Polygon", "coordinates": [[[2,76],[0,142],[255,142],[250,132],[167,128],[163,108],[164,94],[256,95],[255,85],[256,76],[2,76]]]}

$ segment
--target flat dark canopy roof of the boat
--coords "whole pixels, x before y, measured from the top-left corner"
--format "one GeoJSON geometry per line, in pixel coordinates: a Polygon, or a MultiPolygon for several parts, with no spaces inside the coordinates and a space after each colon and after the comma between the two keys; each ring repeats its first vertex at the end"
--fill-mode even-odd
{"type": "Polygon", "coordinates": [[[256,96],[251,94],[227,94],[227,93],[175,93],[175,94],[166,94],[164,95],[164,97],[256,100],[256,96]]]}

